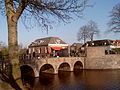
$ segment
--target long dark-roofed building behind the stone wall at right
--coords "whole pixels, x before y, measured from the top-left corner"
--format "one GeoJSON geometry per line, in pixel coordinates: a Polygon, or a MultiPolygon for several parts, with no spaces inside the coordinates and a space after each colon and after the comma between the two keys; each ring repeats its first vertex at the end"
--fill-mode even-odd
{"type": "Polygon", "coordinates": [[[120,53],[120,40],[95,40],[88,41],[82,47],[104,46],[106,54],[120,53]]]}

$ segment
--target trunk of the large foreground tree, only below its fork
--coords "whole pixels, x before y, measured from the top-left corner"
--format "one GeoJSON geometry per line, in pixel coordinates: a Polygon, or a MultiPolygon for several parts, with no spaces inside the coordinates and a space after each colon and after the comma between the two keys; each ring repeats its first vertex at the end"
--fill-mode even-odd
{"type": "Polygon", "coordinates": [[[12,64],[12,76],[17,80],[19,86],[22,85],[21,73],[18,57],[18,39],[17,39],[17,21],[14,22],[12,18],[8,19],[8,46],[9,46],[9,59],[12,64]]]}

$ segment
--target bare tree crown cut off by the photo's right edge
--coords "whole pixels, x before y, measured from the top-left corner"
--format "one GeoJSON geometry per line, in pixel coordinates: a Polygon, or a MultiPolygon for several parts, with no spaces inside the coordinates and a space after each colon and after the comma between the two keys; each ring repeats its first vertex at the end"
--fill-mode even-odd
{"type": "Polygon", "coordinates": [[[120,3],[115,5],[110,14],[108,25],[113,32],[120,32],[120,3]]]}

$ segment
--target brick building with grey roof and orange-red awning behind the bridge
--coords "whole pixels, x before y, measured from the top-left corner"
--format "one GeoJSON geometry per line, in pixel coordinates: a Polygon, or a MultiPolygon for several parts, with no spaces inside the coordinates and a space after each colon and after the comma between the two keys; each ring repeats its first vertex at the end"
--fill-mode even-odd
{"type": "Polygon", "coordinates": [[[61,52],[62,54],[65,51],[68,53],[68,46],[58,37],[41,38],[28,46],[28,53],[31,57],[60,56],[61,52]]]}

